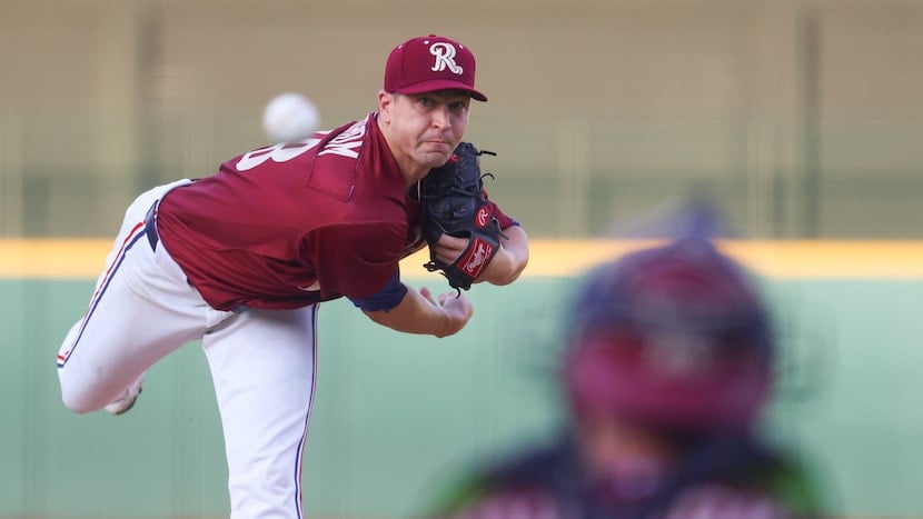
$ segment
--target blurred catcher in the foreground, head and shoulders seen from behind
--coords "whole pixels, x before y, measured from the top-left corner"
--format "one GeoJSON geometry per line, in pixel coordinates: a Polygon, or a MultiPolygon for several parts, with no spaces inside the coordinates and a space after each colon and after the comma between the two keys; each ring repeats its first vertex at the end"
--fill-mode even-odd
{"type": "Polygon", "coordinates": [[[438,517],[820,517],[797,460],[756,436],[775,345],[755,287],[703,237],[595,268],[576,292],[548,446],[466,480],[438,517]]]}

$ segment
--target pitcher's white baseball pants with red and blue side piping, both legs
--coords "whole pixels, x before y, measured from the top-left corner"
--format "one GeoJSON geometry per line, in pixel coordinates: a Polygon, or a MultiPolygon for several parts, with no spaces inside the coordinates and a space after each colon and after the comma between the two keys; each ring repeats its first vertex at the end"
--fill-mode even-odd
{"type": "Polygon", "coordinates": [[[228,461],[231,518],[301,518],[301,455],[314,400],[317,306],[216,310],[202,300],[145,217],[181,180],[126,211],[89,309],[58,352],[64,405],[96,411],[158,360],[201,339],[228,461]]]}

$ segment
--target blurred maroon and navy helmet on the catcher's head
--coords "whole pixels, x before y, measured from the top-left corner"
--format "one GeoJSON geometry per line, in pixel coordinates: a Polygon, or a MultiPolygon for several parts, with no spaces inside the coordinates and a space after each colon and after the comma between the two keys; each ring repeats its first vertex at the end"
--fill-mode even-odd
{"type": "Polygon", "coordinates": [[[743,430],[768,396],[773,349],[745,272],[705,239],[677,240],[587,276],[562,379],[578,419],[743,430]]]}

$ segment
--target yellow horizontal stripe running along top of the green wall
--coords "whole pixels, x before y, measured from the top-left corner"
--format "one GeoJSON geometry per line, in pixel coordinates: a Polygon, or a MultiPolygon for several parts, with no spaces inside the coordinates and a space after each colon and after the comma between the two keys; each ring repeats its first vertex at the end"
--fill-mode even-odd
{"type": "MultiPolygon", "coordinates": [[[[653,241],[530,241],[524,276],[579,275],[653,241]]],[[[112,247],[106,239],[0,240],[1,278],[96,278],[112,247]]],[[[757,273],[774,278],[923,278],[923,241],[724,241],[719,247],[757,273]]],[[[405,277],[430,276],[421,250],[401,265],[405,277]]],[[[431,275],[436,276],[436,275],[431,275]]]]}

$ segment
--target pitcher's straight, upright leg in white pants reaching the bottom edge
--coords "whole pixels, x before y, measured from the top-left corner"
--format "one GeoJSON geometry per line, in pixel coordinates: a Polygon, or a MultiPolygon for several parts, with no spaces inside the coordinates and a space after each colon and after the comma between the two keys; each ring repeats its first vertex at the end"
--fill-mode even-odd
{"type": "Polygon", "coordinates": [[[317,307],[248,310],[207,333],[231,518],[300,518],[315,388],[317,307]]]}

